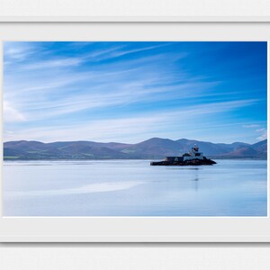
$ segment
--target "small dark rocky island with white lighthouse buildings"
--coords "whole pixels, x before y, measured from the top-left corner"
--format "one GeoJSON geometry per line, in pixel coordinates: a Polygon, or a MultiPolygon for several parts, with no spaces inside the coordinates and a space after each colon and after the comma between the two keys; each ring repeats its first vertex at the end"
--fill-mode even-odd
{"type": "Polygon", "coordinates": [[[198,146],[194,147],[182,157],[165,157],[162,161],[152,161],[151,166],[198,166],[198,165],[213,165],[215,161],[203,157],[202,152],[199,152],[198,146]]]}

